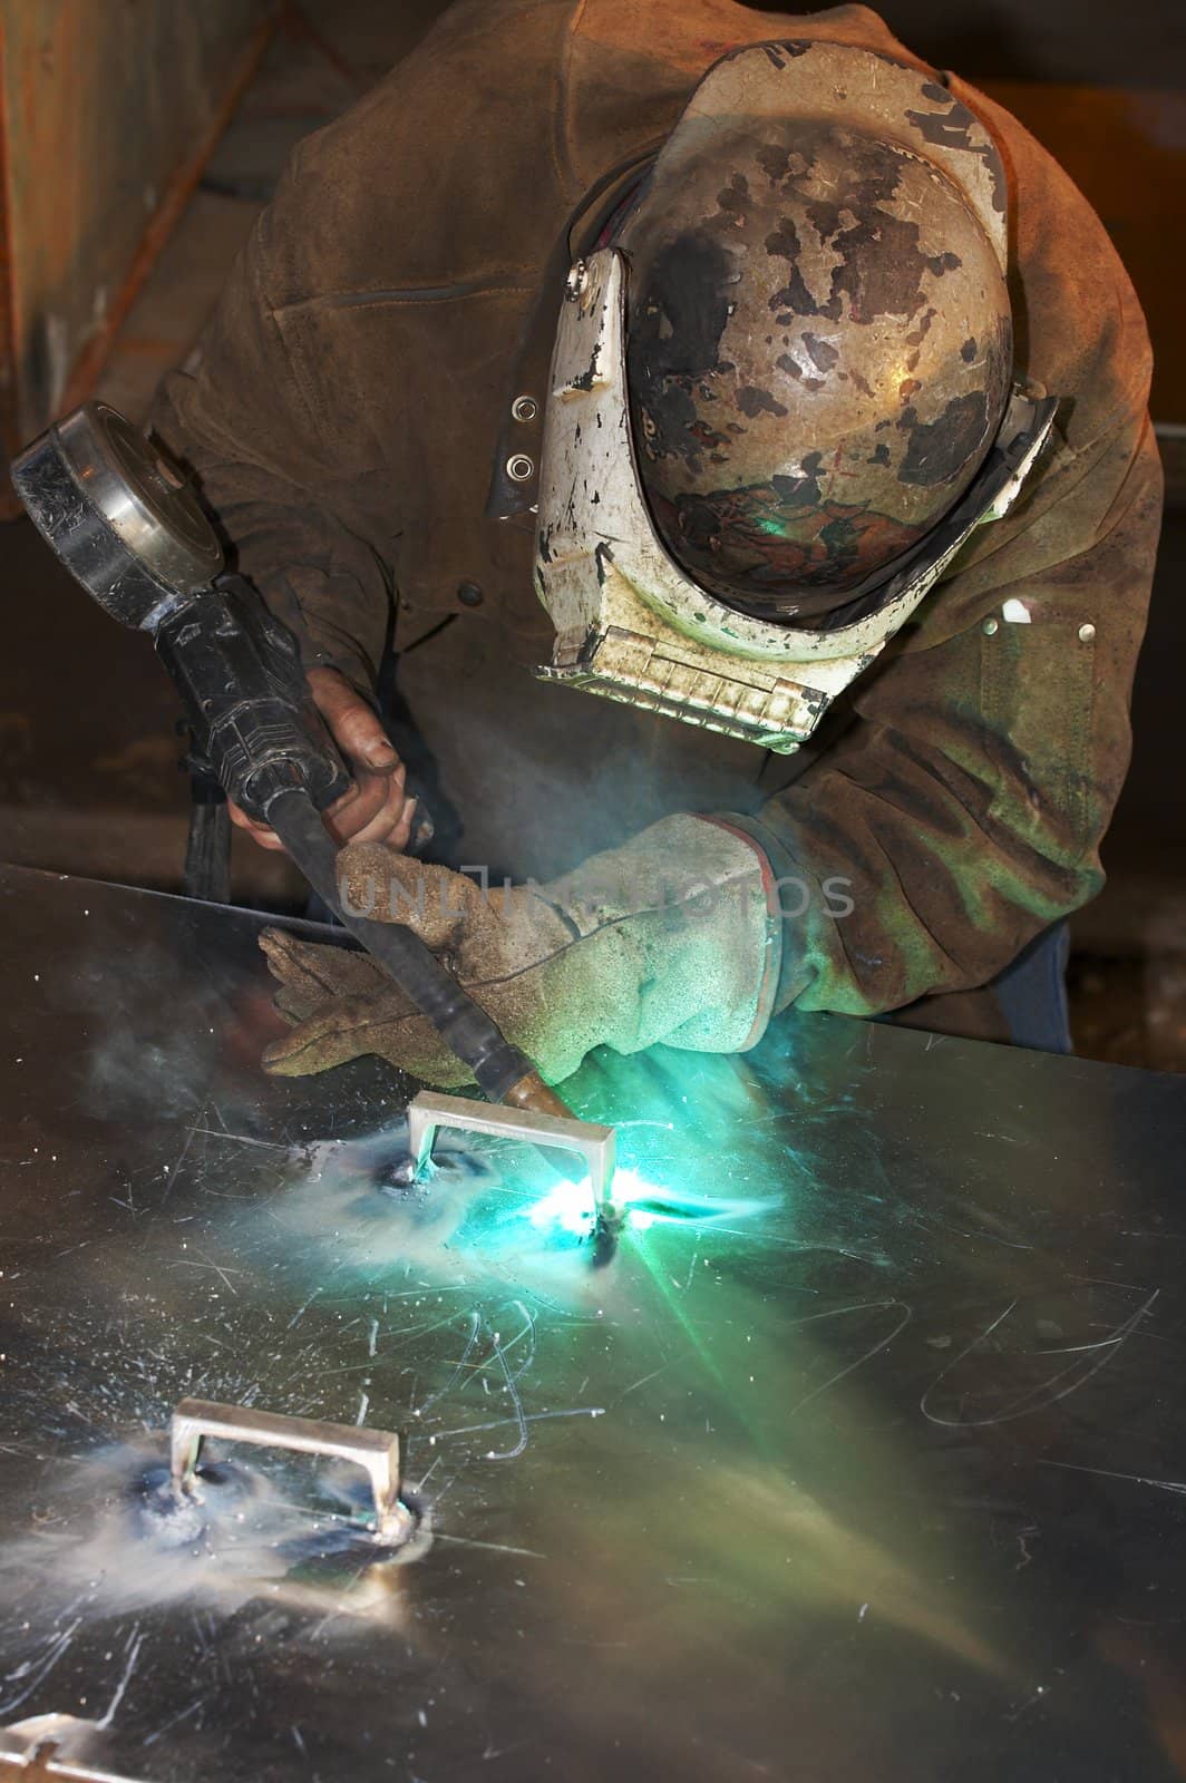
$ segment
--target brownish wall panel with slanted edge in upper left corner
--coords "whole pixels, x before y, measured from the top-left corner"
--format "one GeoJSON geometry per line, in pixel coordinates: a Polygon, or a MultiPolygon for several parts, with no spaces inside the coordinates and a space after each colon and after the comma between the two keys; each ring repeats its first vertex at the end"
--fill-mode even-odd
{"type": "Polygon", "coordinates": [[[276,0],[0,0],[0,446],[86,385],[276,0]]]}

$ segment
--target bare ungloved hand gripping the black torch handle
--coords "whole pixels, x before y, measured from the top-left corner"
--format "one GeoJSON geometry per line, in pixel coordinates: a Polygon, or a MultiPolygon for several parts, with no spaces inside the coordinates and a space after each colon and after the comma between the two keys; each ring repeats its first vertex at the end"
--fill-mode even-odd
{"type": "MultiPolygon", "coordinates": [[[[310,669],[314,704],[355,777],[350,792],[323,811],[325,827],[341,845],[382,842],[405,849],[416,817],[416,799],[405,793],[405,767],[367,703],[337,669],[310,669]]],[[[260,849],[284,850],[275,829],[257,824],[230,801],[230,820],[246,829],[260,849]]]]}

